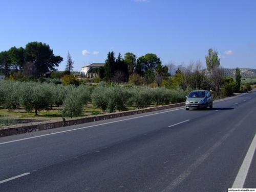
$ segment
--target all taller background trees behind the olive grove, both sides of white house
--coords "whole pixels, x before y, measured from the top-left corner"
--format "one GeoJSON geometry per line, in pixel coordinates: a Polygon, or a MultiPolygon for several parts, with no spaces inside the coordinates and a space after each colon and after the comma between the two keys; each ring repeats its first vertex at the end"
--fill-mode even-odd
{"type": "MultiPolygon", "coordinates": [[[[58,67],[62,60],[62,57],[53,54],[53,50],[46,43],[30,42],[25,49],[23,47],[17,49],[14,46],[0,53],[0,75],[5,75],[11,80],[20,79],[23,76],[37,79],[51,71],[52,78],[61,78],[66,85],[78,86],[78,79],[67,76],[73,70],[74,63],[69,52],[65,68],[67,73],[56,73],[55,67],[58,67]]],[[[133,53],[125,53],[122,58],[119,53],[116,58],[114,52],[109,52],[105,65],[98,69],[91,69],[89,73],[97,71],[99,74],[97,82],[129,82],[134,85],[164,86],[169,89],[180,87],[183,90],[187,87],[208,89],[214,91],[216,98],[220,98],[221,94],[231,95],[233,92],[242,91],[240,69],[236,69],[235,79],[225,78],[216,50],[208,50],[205,63],[206,67],[201,61],[191,61],[186,67],[178,66],[174,73],[174,63],[162,65],[161,59],[156,54],[148,53],[137,58],[133,53]]]]}

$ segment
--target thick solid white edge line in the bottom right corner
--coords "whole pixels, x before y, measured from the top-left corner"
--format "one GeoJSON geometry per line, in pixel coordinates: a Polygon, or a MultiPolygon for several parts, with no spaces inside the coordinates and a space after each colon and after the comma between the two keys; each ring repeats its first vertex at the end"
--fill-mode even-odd
{"type": "Polygon", "coordinates": [[[234,180],[234,183],[231,188],[243,188],[244,182],[245,182],[246,176],[248,174],[250,164],[251,164],[254,152],[255,152],[255,149],[256,149],[256,134],[254,135],[254,138],[251,142],[249,150],[247,151],[247,154],[244,158],[242,166],[240,167],[238,175],[237,175],[236,179],[234,180]]]}

